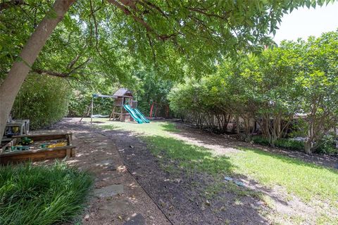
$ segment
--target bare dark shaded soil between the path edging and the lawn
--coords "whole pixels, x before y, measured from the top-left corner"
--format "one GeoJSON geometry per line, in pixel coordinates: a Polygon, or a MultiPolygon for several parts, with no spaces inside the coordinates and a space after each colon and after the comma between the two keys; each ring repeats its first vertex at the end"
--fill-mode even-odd
{"type": "Polygon", "coordinates": [[[127,132],[104,132],[115,139],[126,167],[173,224],[268,224],[257,210],[260,200],[221,191],[220,199],[207,203],[205,192],[213,183],[211,177],[165,172],[137,137],[127,132]]]}

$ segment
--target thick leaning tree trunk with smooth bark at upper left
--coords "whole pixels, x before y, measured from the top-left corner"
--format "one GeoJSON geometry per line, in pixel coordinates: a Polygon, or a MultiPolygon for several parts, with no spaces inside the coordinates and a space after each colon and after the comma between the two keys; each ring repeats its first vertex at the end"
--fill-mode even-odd
{"type": "Polygon", "coordinates": [[[0,141],[4,134],[9,113],[13,107],[15,97],[21,85],[30,72],[39,52],[49,38],[56,25],[63,19],[70,6],[76,0],[56,0],[53,8],[49,10],[28,39],[11,70],[0,86],[0,141]]]}

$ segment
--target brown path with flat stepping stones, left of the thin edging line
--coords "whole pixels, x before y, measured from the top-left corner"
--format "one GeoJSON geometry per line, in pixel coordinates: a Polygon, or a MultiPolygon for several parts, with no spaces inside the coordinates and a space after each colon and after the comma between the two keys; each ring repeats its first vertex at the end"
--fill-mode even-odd
{"type": "Polygon", "coordinates": [[[170,224],[123,165],[113,140],[76,124],[61,122],[54,128],[58,132],[73,132],[77,154],[67,163],[95,175],[94,194],[84,213],[83,224],[170,224]]]}

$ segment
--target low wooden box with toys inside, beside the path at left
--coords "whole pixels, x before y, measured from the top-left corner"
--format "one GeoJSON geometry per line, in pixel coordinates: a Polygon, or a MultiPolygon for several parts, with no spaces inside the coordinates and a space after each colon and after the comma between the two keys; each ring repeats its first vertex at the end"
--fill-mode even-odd
{"type": "Polygon", "coordinates": [[[0,164],[75,157],[75,146],[72,146],[71,141],[70,133],[13,136],[12,140],[0,149],[0,164]],[[27,139],[32,143],[22,145],[27,139]]]}

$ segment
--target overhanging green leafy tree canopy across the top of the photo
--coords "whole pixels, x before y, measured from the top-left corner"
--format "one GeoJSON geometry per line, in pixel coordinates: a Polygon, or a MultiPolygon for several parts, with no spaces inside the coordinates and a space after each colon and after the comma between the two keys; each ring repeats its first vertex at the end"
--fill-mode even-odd
{"type": "MultiPolygon", "coordinates": [[[[32,72],[126,81],[138,65],[164,77],[204,75],[239,51],[272,44],[282,15],[330,0],[156,1],[77,0],[56,27],[32,72]]],[[[11,68],[51,1],[8,0],[0,5],[1,77],[11,68]]],[[[50,13],[51,17],[53,13],[50,13]]]]}

